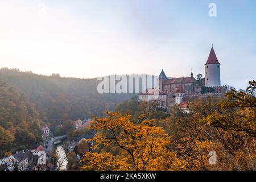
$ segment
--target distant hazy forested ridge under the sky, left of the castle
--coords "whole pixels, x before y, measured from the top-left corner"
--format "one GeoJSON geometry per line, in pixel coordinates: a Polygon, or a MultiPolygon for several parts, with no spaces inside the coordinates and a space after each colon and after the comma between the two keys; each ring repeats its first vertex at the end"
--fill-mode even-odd
{"type": "Polygon", "coordinates": [[[97,78],[43,76],[19,69],[0,69],[0,80],[18,89],[35,106],[43,122],[53,125],[67,119],[84,119],[113,110],[131,94],[99,94],[97,78]]]}

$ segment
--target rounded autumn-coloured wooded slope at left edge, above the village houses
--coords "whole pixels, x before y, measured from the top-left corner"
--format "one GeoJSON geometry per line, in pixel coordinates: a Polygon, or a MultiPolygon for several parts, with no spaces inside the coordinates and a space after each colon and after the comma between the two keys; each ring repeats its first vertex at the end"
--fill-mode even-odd
{"type": "Polygon", "coordinates": [[[30,148],[42,139],[38,111],[26,96],[0,81],[0,158],[5,151],[30,148]]]}

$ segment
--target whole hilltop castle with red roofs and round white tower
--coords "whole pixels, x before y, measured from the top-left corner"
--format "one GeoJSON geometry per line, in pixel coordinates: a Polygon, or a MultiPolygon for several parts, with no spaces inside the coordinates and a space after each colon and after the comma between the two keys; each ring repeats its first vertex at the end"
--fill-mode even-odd
{"type": "MultiPolygon", "coordinates": [[[[213,47],[210,49],[207,63],[205,63],[205,77],[201,74],[197,78],[193,77],[193,72],[189,77],[170,78],[167,77],[163,69],[159,75],[159,97],[156,100],[159,106],[180,105],[186,107],[187,102],[199,97],[211,95],[222,95],[227,87],[221,86],[220,69],[221,64],[217,59],[213,47]]],[[[147,89],[146,92],[139,94],[141,101],[150,101],[150,96],[155,89],[147,89]]]]}

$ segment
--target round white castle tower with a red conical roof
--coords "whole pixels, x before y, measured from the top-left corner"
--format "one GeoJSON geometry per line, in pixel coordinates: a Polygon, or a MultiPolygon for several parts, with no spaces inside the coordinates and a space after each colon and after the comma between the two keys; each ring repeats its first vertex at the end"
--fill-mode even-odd
{"type": "Polygon", "coordinates": [[[210,54],[205,64],[205,86],[221,86],[220,63],[214,49],[210,49],[210,54]]]}

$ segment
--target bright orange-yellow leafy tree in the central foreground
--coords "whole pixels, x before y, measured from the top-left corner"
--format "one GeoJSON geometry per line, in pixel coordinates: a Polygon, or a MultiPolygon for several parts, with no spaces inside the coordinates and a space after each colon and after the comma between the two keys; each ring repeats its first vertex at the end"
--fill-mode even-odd
{"type": "Polygon", "coordinates": [[[135,124],[131,122],[131,115],[121,115],[121,113],[108,112],[106,118],[95,118],[92,127],[98,133],[93,139],[96,143],[94,147],[100,151],[100,147],[117,146],[122,152],[118,155],[109,152],[88,152],[82,158],[83,169],[171,170],[182,168],[174,152],[167,149],[171,143],[170,137],[162,127],[156,127],[155,124],[154,119],[143,119],[142,123],[135,124]]]}

